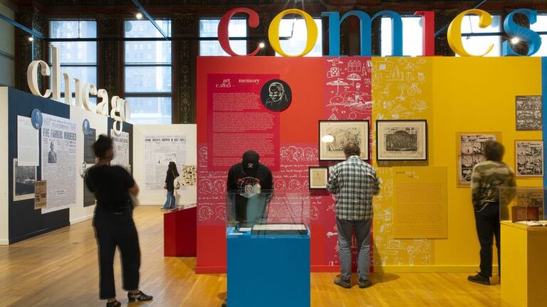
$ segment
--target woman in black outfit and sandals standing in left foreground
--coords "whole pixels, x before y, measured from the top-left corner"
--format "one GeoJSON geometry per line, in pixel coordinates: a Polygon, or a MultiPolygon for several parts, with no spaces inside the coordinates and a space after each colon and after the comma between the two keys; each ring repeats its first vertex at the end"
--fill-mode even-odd
{"type": "Polygon", "coordinates": [[[93,151],[99,161],[85,174],[85,183],[97,199],[93,227],[99,252],[100,299],[108,300],[107,307],[122,306],[116,300],[113,267],[116,247],[120,247],[127,298],[130,302],[150,301],[152,296],[139,290],[139,237],[129,195],[137,195],[139,186],[125,168],[110,166],[114,156],[112,139],[100,135],[93,144],[93,151]]]}

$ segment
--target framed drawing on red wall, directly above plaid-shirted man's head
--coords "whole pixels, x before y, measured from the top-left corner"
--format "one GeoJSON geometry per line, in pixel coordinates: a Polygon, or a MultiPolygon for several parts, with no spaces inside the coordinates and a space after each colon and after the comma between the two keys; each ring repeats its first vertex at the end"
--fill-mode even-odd
{"type": "Polygon", "coordinates": [[[358,144],[360,158],[368,160],[368,121],[319,121],[319,160],[345,160],[343,147],[349,142],[358,144]]]}

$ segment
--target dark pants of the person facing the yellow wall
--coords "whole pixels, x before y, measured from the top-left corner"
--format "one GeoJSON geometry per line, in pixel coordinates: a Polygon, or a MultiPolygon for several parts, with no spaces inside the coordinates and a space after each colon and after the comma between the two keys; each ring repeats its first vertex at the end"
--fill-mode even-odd
{"type": "Polygon", "coordinates": [[[499,239],[499,204],[489,203],[486,207],[475,208],[476,235],[481,244],[481,275],[492,276],[492,243],[496,237],[498,247],[498,269],[501,276],[501,259],[499,251],[501,242],[499,239]]]}

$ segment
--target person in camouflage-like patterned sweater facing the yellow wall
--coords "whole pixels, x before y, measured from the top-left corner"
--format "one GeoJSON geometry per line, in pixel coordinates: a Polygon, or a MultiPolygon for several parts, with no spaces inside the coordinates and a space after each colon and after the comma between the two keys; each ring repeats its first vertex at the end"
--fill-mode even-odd
{"type": "Polygon", "coordinates": [[[475,213],[476,235],[481,244],[481,264],[476,275],[467,280],[478,284],[490,284],[492,276],[492,239],[496,237],[498,270],[501,281],[501,241],[499,238],[499,188],[515,187],[515,173],[506,163],[504,146],[497,141],[484,142],[486,161],[476,164],[471,178],[471,194],[475,213]]]}

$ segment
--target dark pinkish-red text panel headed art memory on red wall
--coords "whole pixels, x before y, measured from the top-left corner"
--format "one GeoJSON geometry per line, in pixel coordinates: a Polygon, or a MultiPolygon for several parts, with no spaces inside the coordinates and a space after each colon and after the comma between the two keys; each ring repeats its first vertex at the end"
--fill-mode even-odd
{"type": "Polygon", "coordinates": [[[288,89],[278,82],[283,87],[278,90],[281,87],[269,82],[278,79],[279,75],[272,74],[208,76],[209,171],[228,171],[230,166],[241,161],[241,155],[248,150],[258,152],[260,162],[272,171],[279,169],[280,115],[271,106],[288,105],[288,89]],[[264,97],[261,97],[263,91],[264,97]],[[277,95],[280,92],[283,93],[277,95]],[[271,99],[274,95],[283,99],[274,102],[271,99]]]}

